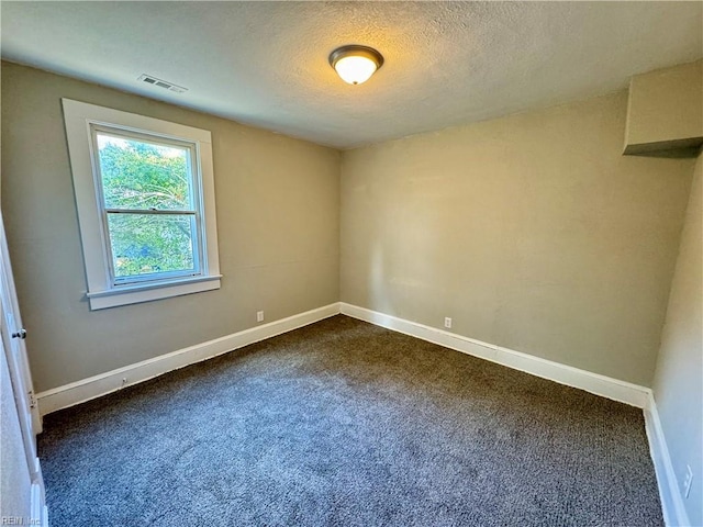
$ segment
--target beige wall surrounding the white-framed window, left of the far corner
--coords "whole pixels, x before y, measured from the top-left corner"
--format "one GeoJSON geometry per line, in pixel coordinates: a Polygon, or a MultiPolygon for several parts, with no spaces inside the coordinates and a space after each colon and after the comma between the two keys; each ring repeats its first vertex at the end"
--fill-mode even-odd
{"type": "Polygon", "coordinates": [[[338,301],[339,154],[2,64],[2,211],[37,391],[338,301]],[[212,132],[217,291],[90,312],[60,98],[212,132]]]}

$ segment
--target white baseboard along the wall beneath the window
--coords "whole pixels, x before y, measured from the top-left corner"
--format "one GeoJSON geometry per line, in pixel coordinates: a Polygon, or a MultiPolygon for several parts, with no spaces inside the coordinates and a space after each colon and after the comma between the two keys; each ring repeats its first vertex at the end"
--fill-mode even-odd
{"type": "Polygon", "coordinates": [[[99,375],[71,382],[36,394],[42,416],[67,408],[91,399],[107,395],[124,386],[153,379],[172,370],[200,362],[217,355],[258,343],[276,335],[306,326],[339,313],[339,303],[335,302],[316,310],[281,318],[260,326],[233,333],[207,343],[197,344],[153,359],[143,360],[99,375]],[[123,379],[126,382],[123,383],[123,379]]]}

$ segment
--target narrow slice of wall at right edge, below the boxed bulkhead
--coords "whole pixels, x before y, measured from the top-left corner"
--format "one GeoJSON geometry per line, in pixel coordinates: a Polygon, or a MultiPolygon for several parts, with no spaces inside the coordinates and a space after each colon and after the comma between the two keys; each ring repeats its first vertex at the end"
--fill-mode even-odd
{"type": "Polygon", "coordinates": [[[703,525],[703,153],[681,236],[661,336],[654,392],[679,489],[687,464],[693,485],[684,506],[691,525],[703,525]]]}

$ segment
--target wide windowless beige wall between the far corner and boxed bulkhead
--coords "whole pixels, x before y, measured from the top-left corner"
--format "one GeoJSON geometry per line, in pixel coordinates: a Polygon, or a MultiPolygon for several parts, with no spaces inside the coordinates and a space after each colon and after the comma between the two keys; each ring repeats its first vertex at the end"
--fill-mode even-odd
{"type": "Polygon", "coordinates": [[[345,152],[342,300],[650,385],[693,159],[627,93],[345,152]]]}

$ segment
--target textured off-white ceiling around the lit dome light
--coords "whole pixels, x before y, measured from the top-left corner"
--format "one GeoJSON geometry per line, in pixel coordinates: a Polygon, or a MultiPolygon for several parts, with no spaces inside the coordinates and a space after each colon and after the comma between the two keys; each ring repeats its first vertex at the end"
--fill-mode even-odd
{"type": "Polygon", "coordinates": [[[8,2],[9,60],[350,148],[601,94],[703,55],[702,2],[8,2]],[[327,64],[376,47],[367,83],[327,64]],[[177,94],[137,81],[149,74],[177,94]]]}

